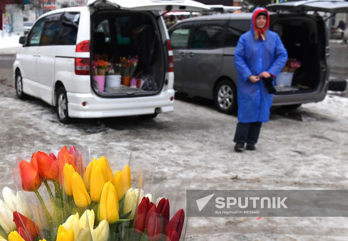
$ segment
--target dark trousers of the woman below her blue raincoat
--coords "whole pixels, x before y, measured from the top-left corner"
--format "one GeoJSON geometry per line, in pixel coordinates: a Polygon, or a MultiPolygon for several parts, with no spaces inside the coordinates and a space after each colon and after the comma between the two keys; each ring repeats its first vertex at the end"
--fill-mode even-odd
{"type": "Polygon", "coordinates": [[[259,139],[261,122],[240,123],[238,122],[234,142],[256,143],[259,139]]]}

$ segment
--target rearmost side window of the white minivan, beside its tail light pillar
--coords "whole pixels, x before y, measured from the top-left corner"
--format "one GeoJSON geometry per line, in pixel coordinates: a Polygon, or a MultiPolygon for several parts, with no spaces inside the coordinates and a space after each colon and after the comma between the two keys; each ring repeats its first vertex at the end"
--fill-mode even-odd
{"type": "Polygon", "coordinates": [[[80,13],[64,13],[58,45],[75,45],[80,13]]]}

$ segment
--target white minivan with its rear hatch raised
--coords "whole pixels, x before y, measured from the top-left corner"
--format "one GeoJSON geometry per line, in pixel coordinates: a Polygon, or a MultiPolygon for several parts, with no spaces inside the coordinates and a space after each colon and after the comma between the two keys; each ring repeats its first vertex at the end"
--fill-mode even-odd
{"type": "MultiPolygon", "coordinates": [[[[40,16],[14,62],[14,88],[55,106],[60,122],[71,118],[139,115],[174,110],[173,51],[162,15],[170,10],[208,9],[191,0],[89,0],[40,16]],[[137,56],[135,72],[148,88],[99,92],[92,58],[137,56]]],[[[135,86],[132,86],[135,87],[135,86]]]]}

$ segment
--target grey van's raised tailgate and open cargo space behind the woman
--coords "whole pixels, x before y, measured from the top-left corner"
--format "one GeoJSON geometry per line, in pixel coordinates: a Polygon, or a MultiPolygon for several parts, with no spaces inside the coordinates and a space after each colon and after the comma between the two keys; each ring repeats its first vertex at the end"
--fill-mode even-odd
{"type": "Polygon", "coordinates": [[[320,90],[327,80],[329,69],[325,57],[327,35],[325,22],[317,14],[307,14],[308,11],[327,13],[348,12],[348,2],[343,0],[306,0],[289,1],[270,4],[269,11],[278,14],[271,15],[270,30],[278,33],[289,56],[283,73],[277,77],[276,94],[305,93],[320,90]],[[291,61],[294,61],[291,64],[291,61]],[[285,84],[284,84],[285,83],[285,84]],[[290,83],[290,84],[286,84],[290,83]]]}

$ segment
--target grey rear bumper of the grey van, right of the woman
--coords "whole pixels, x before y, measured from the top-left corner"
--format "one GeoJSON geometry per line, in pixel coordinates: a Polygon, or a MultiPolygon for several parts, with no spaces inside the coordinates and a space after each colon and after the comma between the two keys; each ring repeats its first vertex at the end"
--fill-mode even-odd
{"type": "Polygon", "coordinates": [[[324,100],[329,85],[325,83],[322,91],[300,94],[275,94],[273,95],[272,106],[296,105],[302,103],[319,102],[324,100]]]}

